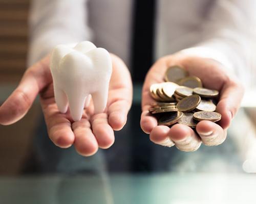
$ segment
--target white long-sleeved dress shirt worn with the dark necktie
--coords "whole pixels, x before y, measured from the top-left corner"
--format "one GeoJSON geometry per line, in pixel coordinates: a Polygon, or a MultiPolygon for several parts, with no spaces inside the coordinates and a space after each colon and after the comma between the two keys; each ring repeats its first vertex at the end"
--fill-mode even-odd
{"type": "MultiPolygon", "coordinates": [[[[57,44],[90,40],[129,66],[132,4],[132,0],[33,0],[28,64],[57,44]]],[[[212,58],[248,86],[255,10],[255,0],[159,0],[155,59],[180,50],[212,58]]]]}

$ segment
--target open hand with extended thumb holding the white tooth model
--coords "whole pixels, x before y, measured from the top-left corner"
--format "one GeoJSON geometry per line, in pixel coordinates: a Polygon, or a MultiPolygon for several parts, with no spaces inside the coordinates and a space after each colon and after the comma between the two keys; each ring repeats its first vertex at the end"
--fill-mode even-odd
{"type": "Polygon", "coordinates": [[[67,148],[74,144],[83,156],[95,154],[98,147],[110,147],[114,143],[113,130],[122,129],[132,104],[130,72],[120,58],[111,57],[113,72],[104,113],[94,114],[91,103],[80,121],[73,122],[69,111],[61,114],[54,100],[47,56],[27,69],[18,87],[0,107],[0,124],[9,125],[23,118],[39,93],[48,135],[55,145],[67,148]]]}

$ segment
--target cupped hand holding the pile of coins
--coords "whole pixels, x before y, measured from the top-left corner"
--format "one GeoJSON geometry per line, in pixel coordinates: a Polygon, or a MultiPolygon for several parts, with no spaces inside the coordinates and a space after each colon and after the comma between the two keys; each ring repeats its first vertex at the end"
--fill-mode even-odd
{"type": "Polygon", "coordinates": [[[225,72],[225,67],[219,62],[181,53],[169,55],[159,59],[146,75],[142,90],[140,125],[142,130],[150,135],[152,142],[163,146],[176,145],[182,151],[197,150],[201,143],[207,146],[219,145],[226,139],[227,129],[240,107],[243,94],[242,85],[233,75],[225,72]],[[190,75],[199,77],[204,87],[220,92],[216,110],[222,115],[219,122],[200,121],[196,132],[183,124],[175,124],[171,128],[157,125],[156,118],[148,112],[154,101],[150,95],[150,86],[163,82],[166,69],[172,65],[184,67],[190,75]]]}

